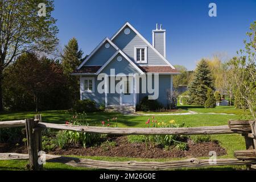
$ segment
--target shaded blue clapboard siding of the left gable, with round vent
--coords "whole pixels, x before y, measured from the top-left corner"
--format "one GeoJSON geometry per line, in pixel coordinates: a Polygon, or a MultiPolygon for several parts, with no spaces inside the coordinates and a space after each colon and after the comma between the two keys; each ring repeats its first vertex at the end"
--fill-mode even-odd
{"type": "Polygon", "coordinates": [[[103,65],[109,58],[117,51],[111,44],[109,48],[105,48],[105,42],[102,46],[97,50],[96,53],[88,61],[86,61],[85,65],[103,65]]]}

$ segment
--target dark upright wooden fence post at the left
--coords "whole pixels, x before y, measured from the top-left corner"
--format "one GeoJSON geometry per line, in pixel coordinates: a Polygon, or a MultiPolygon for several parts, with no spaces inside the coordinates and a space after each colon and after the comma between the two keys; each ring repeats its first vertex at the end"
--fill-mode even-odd
{"type": "MultiPolygon", "coordinates": [[[[37,117],[40,118],[40,117],[37,117]]],[[[25,119],[27,133],[27,149],[29,156],[29,169],[39,171],[43,169],[42,164],[38,163],[38,152],[42,150],[42,132],[36,128],[39,119],[25,119]]]]}

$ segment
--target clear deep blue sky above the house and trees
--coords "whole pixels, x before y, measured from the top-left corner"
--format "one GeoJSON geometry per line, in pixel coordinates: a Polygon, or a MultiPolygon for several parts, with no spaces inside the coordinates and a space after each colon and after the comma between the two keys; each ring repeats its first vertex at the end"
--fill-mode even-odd
{"type": "Polygon", "coordinates": [[[167,59],[191,70],[202,57],[221,54],[227,59],[244,47],[245,33],[256,20],[256,0],[55,0],[52,15],[57,19],[60,46],[75,37],[85,54],[126,21],[150,43],[152,29],[162,23],[167,30],[167,59]],[[211,2],[217,5],[217,17],[208,15],[211,2]]]}

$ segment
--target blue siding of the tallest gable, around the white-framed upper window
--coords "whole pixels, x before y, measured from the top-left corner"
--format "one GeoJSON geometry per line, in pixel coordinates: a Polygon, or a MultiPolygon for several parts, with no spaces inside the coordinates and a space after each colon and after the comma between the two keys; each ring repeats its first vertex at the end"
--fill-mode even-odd
{"type": "MultiPolygon", "coordinates": [[[[126,27],[125,27],[126,28],[126,27]]],[[[113,42],[119,47],[131,60],[134,61],[134,47],[147,47],[147,64],[139,65],[168,65],[151,47],[147,45],[133,30],[129,35],[121,31],[113,42]]]]}

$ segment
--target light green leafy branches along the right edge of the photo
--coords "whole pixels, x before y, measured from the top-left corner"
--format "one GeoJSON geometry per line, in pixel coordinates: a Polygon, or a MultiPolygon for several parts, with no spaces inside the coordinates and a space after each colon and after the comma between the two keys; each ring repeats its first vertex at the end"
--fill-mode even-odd
{"type": "Polygon", "coordinates": [[[256,21],[247,32],[249,42],[245,43],[245,50],[240,50],[237,57],[229,61],[229,70],[232,75],[232,92],[235,97],[235,106],[248,109],[256,119],[256,21]]]}

